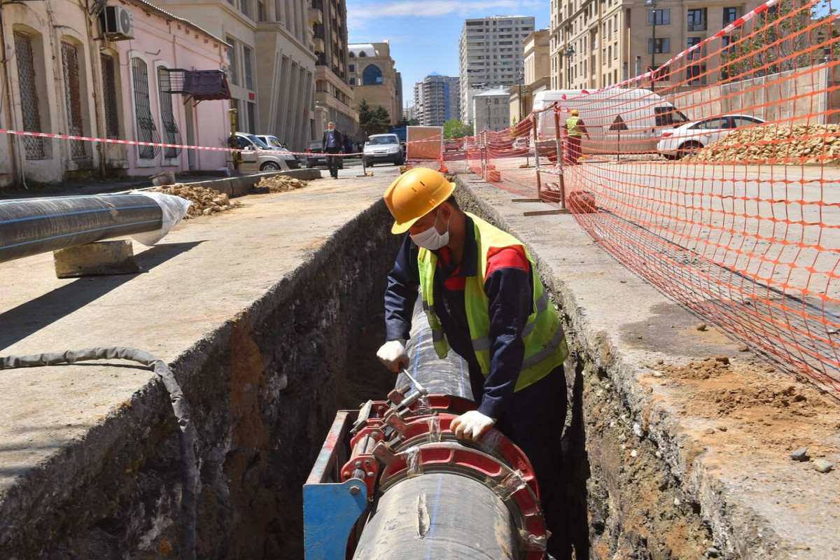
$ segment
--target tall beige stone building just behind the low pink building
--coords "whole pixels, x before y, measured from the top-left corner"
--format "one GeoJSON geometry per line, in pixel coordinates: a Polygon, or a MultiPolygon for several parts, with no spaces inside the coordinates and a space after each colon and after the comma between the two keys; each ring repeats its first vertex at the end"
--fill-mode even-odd
{"type": "Polygon", "coordinates": [[[315,53],[307,0],[155,0],[228,43],[230,105],[237,128],[305,149],[314,132],[315,53]]]}

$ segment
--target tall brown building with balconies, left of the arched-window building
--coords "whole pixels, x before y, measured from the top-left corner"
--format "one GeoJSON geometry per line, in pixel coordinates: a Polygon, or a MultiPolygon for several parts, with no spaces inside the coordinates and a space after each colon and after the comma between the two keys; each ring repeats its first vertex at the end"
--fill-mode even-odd
{"type": "Polygon", "coordinates": [[[332,121],[354,135],[359,113],[353,108],[353,88],[347,69],[347,4],[345,0],[309,0],[309,24],[315,55],[315,139],[332,121]]]}

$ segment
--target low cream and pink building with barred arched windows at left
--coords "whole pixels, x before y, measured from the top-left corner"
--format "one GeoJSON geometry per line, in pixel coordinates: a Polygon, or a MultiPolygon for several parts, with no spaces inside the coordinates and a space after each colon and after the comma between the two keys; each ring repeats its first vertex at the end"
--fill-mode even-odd
{"type": "MultiPolygon", "coordinates": [[[[0,128],[226,144],[229,102],[216,91],[227,88],[221,39],[144,0],[117,0],[93,14],[71,0],[46,8],[3,6],[0,41],[8,59],[0,88],[11,102],[0,106],[0,128]],[[115,14],[123,17],[118,33],[104,24],[115,14]]],[[[226,169],[228,160],[226,152],[0,134],[0,187],[211,172],[226,169]]]]}

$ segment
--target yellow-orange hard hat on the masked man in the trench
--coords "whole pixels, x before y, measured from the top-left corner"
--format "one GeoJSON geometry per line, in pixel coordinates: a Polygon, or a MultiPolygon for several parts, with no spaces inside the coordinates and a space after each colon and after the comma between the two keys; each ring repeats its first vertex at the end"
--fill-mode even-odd
{"type": "Polygon", "coordinates": [[[382,196],[394,225],[391,233],[405,233],[418,219],[432,212],[455,190],[444,175],[428,167],[415,167],[396,178],[382,196]]]}

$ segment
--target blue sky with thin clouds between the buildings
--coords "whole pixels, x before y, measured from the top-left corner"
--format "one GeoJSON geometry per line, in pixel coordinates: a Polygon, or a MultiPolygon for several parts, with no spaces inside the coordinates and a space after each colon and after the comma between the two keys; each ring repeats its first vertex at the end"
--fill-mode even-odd
{"type": "Polygon", "coordinates": [[[402,73],[403,104],[414,104],[414,84],[438,72],[458,76],[458,41],[468,18],[522,15],[548,29],[549,0],[347,0],[350,43],[391,44],[402,73]]]}

